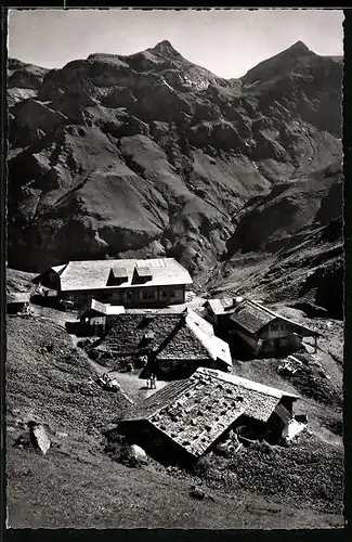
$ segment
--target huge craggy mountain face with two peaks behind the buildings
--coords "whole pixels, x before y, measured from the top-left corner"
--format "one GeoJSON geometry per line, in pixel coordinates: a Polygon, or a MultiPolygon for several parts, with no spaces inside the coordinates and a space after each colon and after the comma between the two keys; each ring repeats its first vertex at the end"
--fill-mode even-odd
{"type": "Polygon", "coordinates": [[[301,49],[242,80],[168,41],[50,72],[10,60],[9,93],[31,94],[9,100],[9,263],[168,255],[209,269],[247,201],[341,159],[322,107],[338,109],[342,66],[301,49]]]}

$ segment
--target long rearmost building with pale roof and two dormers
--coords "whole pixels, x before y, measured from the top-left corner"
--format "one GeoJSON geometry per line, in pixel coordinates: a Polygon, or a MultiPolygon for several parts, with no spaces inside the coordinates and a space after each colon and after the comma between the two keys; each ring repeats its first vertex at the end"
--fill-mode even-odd
{"type": "Polygon", "coordinates": [[[192,279],[174,258],[154,258],[69,261],[47,270],[36,282],[77,307],[91,298],[125,307],[166,307],[185,301],[192,279]]]}

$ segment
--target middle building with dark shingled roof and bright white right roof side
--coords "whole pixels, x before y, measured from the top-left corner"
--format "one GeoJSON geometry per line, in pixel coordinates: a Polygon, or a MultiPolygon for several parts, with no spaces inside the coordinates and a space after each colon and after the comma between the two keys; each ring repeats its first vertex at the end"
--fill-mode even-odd
{"type": "Polygon", "coordinates": [[[156,374],[162,378],[188,376],[198,366],[232,369],[229,345],[214,335],[209,322],[192,310],[120,314],[95,353],[101,360],[105,358],[105,363],[110,360],[113,365],[120,365],[120,360],[153,354],[156,374]]]}

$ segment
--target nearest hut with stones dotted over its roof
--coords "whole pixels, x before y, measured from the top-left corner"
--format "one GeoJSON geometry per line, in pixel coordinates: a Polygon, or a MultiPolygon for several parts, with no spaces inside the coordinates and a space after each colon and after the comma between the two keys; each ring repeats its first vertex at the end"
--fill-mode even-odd
{"type": "Polygon", "coordinates": [[[289,437],[297,399],[281,389],[199,367],[190,378],[175,380],[129,409],[110,434],[118,430],[141,446],[171,446],[177,453],[198,459],[239,427],[242,435],[272,442],[289,437]]]}

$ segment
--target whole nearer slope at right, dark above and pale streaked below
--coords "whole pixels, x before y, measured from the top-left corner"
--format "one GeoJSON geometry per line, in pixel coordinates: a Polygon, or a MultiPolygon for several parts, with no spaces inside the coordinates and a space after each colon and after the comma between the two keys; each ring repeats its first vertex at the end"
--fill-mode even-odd
{"type": "Polygon", "coordinates": [[[236,217],[213,293],[313,302],[343,318],[342,171],[331,165],[249,201],[236,217]]]}

